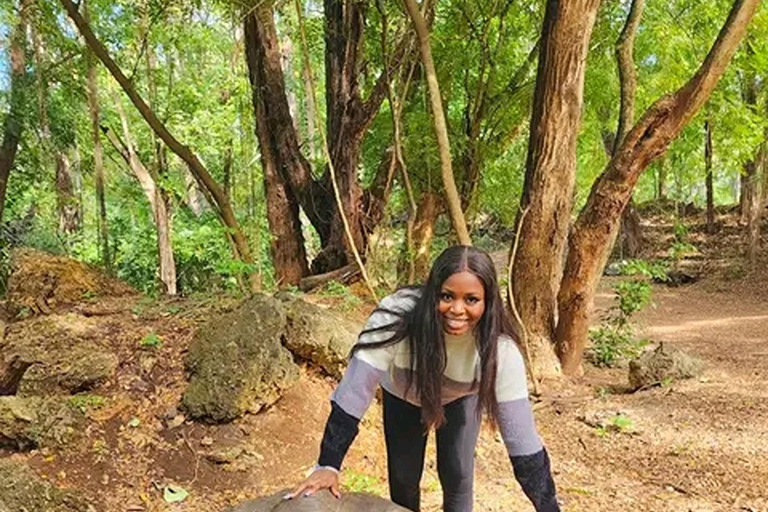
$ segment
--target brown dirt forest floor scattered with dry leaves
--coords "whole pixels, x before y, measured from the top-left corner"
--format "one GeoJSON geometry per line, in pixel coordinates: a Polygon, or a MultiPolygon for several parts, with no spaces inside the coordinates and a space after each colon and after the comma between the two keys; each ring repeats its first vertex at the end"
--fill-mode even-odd
{"type": "MultiPolygon", "coordinates": [[[[585,365],[582,377],[548,389],[535,404],[564,510],[768,512],[768,265],[737,262],[722,237],[699,244],[703,279],[677,288],[655,285],[654,305],[638,319],[641,333],[654,342],[701,358],[699,378],[630,393],[626,369],[585,365]],[[620,431],[583,421],[618,412],[628,418],[620,431]]],[[[601,284],[598,309],[611,305],[615,279],[601,284]]],[[[57,320],[97,329],[121,360],[115,381],[92,391],[103,399],[83,404],[90,420],[84,435],[57,449],[0,450],[0,457],[26,462],[99,512],[218,512],[290,487],[312,467],[332,379],[303,368],[299,383],[266,412],[226,425],[185,421],[175,409],[186,385],[185,350],[196,326],[228,303],[129,297],[101,307],[112,313],[73,311],[57,320]],[[137,347],[151,332],[163,345],[148,363],[137,347]],[[189,497],[166,503],[168,484],[189,497]]],[[[347,314],[362,319],[370,307],[347,314]]],[[[380,406],[374,404],[347,457],[345,488],[386,495],[384,454],[380,406]]],[[[423,508],[439,510],[433,436],[422,486],[423,508]]],[[[503,443],[490,431],[477,448],[475,510],[533,510],[503,443]]]]}

